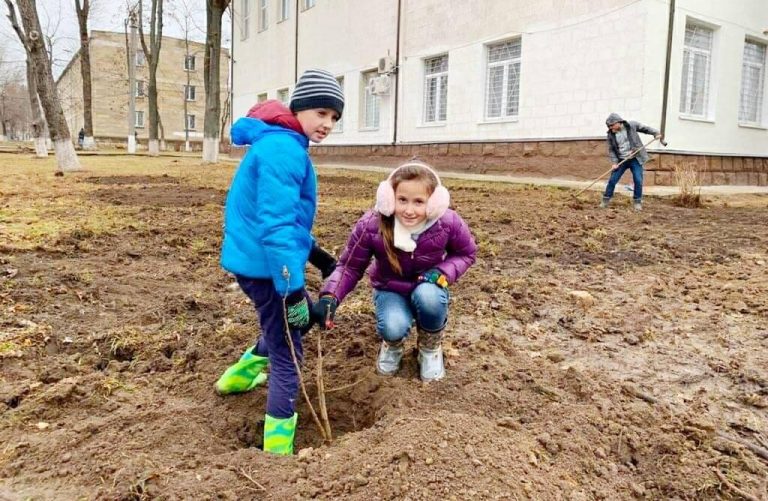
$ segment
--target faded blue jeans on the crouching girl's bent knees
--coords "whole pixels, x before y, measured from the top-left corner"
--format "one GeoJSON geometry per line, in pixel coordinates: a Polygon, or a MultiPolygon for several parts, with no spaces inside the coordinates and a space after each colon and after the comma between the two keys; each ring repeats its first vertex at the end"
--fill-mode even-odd
{"type": "Polygon", "coordinates": [[[401,341],[413,321],[428,332],[441,331],[448,321],[448,289],[434,284],[419,284],[410,296],[397,292],[373,291],[376,306],[376,332],[387,342],[401,341]]]}

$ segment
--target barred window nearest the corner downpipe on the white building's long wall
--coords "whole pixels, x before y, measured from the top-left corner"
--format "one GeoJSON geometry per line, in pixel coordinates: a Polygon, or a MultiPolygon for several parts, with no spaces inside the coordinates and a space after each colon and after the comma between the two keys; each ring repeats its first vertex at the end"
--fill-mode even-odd
{"type": "Polygon", "coordinates": [[[519,38],[488,46],[486,70],[486,118],[511,118],[520,112],[519,38]]]}

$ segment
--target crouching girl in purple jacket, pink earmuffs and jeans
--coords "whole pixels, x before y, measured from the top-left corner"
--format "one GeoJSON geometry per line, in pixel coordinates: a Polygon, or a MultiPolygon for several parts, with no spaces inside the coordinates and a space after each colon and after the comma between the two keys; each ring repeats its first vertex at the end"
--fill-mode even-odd
{"type": "Polygon", "coordinates": [[[323,285],[313,316],[333,325],[336,308],[369,275],[382,338],[376,369],[393,375],[414,321],[423,381],[441,379],[448,286],[475,262],[477,246],[461,217],[448,208],[450,196],[427,164],[405,163],[382,181],[376,206],[355,224],[335,271],[323,285]]]}

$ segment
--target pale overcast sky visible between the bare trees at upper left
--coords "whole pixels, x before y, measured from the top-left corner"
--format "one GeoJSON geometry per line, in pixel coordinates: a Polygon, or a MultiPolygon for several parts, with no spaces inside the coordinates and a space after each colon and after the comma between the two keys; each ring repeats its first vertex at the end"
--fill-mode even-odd
{"type": "MultiPolygon", "coordinates": [[[[130,0],[135,3],[136,0],[130,0]]],[[[15,2],[14,2],[15,3],[15,2]]],[[[54,78],[69,63],[79,49],[77,17],[74,0],[36,0],[40,24],[43,31],[54,39],[53,67],[54,78]]],[[[124,31],[124,22],[128,10],[127,0],[91,0],[89,29],[124,31]]],[[[144,0],[145,17],[149,18],[151,0],[144,0]]],[[[205,41],[205,0],[164,0],[163,35],[184,38],[184,12],[190,12],[190,39],[205,41]],[[174,17],[181,18],[179,21],[174,17]]],[[[8,7],[0,2],[0,73],[8,75],[24,66],[24,51],[8,20],[8,7]]],[[[18,13],[17,13],[18,15],[18,13]]],[[[230,22],[225,14],[222,26],[222,45],[229,47],[230,22]]]]}

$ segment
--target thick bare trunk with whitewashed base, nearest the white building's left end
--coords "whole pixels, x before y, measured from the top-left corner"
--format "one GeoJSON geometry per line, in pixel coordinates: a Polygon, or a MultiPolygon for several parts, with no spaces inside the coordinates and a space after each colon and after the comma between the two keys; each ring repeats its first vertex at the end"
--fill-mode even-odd
{"type": "Polygon", "coordinates": [[[204,163],[216,163],[219,160],[221,18],[229,4],[230,0],[206,0],[204,163]]]}

